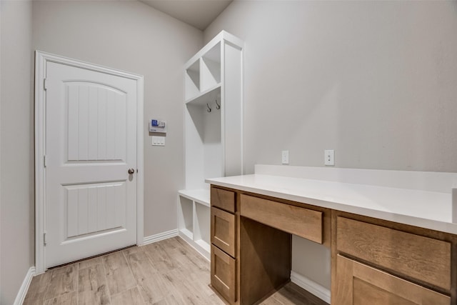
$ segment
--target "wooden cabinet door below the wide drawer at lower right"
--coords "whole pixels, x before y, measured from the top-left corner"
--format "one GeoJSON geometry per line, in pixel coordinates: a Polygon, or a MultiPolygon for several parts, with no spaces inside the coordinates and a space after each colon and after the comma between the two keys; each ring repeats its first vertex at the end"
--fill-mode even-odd
{"type": "Polygon", "coordinates": [[[449,296],[387,274],[338,255],[336,259],[338,305],[450,305],[449,296]]]}

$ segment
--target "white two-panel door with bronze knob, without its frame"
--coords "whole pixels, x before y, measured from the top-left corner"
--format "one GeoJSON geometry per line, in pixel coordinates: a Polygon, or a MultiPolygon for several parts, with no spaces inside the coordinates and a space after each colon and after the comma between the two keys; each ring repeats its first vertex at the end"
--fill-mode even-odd
{"type": "Polygon", "coordinates": [[[46,268],[136,244],[136,107],[133,79],[46,63],[46,268]]]}

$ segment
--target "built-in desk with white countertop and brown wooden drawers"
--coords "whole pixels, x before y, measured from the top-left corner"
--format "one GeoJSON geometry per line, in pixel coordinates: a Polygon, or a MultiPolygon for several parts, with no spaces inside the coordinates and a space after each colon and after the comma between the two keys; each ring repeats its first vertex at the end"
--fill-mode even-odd
{"type": "Polygon", "coordinates": [[[295,234],[331,249],[331,304],[457,305],[451,194],[263,174],[206,181],[211,286],[229,304],[290,281],[295,234]]]}

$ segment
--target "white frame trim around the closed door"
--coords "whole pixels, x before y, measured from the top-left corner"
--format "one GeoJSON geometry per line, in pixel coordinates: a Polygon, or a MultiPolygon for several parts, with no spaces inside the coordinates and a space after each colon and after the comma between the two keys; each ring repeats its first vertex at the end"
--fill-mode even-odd
{"type": "Polygon", "coordinates": [[[35,268],[36,274],[46,271],[46,252],[44,249],[44,224],[46,213],[46,167],[44,152],[46,147],[46,63],[65,64],[81,69],[89,69],[136,81],[136,244],[144,242],[144,76],[119,71],[105,66],[89,64],[64,56],[35,51],[35,268]]]}

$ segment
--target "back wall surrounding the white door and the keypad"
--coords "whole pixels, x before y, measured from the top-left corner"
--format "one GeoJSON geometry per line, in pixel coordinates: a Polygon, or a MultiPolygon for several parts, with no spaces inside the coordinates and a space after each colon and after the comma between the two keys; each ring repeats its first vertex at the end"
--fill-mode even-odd
{"type": "Polygon", "coordinates": [[[177,228],[184,187],[184,64],[201,31],[138,1],[34,1],[33,47],[144,75],[144,236],[177,228]],[[147,122],[167,121],[166,146],[147,122]]]}

